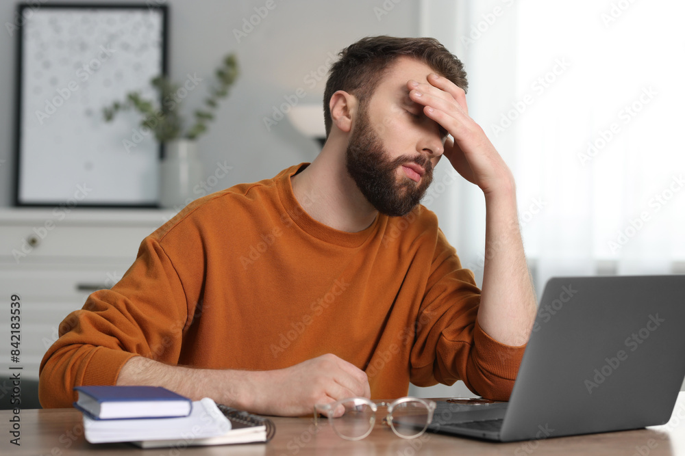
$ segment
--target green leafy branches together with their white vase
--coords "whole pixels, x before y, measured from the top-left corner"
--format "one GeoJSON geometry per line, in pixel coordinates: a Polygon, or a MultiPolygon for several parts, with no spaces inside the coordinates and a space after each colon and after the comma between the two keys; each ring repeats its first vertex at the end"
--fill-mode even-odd
{"type": "Polygon", "coordinates": [[[202,177],[202,166],[197,157],[197,138],[205,133],[214,120],[219,101],[226,98],[229,88],[238,77],[238,61],[234,54],[223,58],[214,72],[215,83],[209,90],[203,106],[195,110],[192,123],[186,126],[179,113],[179,91],[186,90],[172,83],[166,76],[152,79],[157,97],[149,100],[138,92],[130,92],[125,100],[112,103],[103,109],[105,120],[110,122],[119,111],[133,109],[142,116],[141,128],[149,129],[158,142],[164,143],[164,159],[160,165],[160,206],[172,208],[188,204],[191,189],[202,177]]]}

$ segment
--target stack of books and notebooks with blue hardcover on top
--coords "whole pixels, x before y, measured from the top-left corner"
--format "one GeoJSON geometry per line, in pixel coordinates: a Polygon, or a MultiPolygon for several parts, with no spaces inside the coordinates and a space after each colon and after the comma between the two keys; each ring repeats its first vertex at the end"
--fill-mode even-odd
{"type": "Polygon", "coordinates": [[[268,418],[241,412],[212,399],[190,401],[155,386],[78,386],[90,443],[132,442],[142,448],[268,442],[268,418]]]}

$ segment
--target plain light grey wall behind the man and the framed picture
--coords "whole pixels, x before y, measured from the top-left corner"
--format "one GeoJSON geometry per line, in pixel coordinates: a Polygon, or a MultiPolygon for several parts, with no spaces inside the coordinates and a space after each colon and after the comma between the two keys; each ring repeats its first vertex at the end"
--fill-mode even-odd
{"type": "MultiPolygon", "coordinates": [[[[166,3],[170,8],[169,70],[173,79],[182,82],[188,73],[210,75],[223,55],[238,55],[240,79],[199,142],[206,176],[214,174],[217,162],[226,161],[233,167],[212,191],[269,178],[315,157],[318,146],[299,135],[287,119],[267,131],[263,118],[271,116],[273,107],[285,103],[284,96],[292,96],[299,88],[306,93],[299,103],[320,103],[325,77],[315,84],[312,77],[306,77],[327,66],[329,55],[363,36],[419,33],[419,4],[414,1],[385,0],[389,11],[379,15],[374,8],[386,13],[384,0],[273,0],[275,8],[240,42],[233,30],[241,29],[243,19],[255,14],[254,8],[263,8],[266,0],[148,1],[166,3]]],[[[5,27],[14,21],[14,10],[14,1],[0,0],[0,206],[11,206],[14,200],[16,33],[10,36],[5,27]]],[[[182,112],[192,113],[203,90],[206,86],[186,98],[182,112]]]]}

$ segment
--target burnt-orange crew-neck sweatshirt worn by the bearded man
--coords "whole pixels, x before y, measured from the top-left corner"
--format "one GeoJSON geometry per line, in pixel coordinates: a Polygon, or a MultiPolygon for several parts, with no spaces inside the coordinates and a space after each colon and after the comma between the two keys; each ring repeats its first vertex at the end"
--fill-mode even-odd
{"type": "Polygon", "coordinates": [[[366,371],[373,399],[464,380],[506,400],[524,347],[479,327],[473,273],[417,206],[361,232],[312,219],[290,176],[200,198],[145,238],[111,290],[60,325],[40,365],[40,402],[112,385],[138,354],[172,365],[269,370],[334,353],[366,371]]]}

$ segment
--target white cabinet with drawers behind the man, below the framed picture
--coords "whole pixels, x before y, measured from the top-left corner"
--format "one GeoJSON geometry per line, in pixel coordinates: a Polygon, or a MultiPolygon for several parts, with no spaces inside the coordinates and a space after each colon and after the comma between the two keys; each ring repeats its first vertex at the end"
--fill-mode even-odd
{"type": "Polygon", "coordinates": [[[23,378],[37,379],[62,319],[81,308],[92,291],[114,285],[135,260],[142,239],[172,216],[154,209],[0,210],[2,377],[9,377],[10,366],[21,366],[23,378]],[[12,295],[21,298],[19,362],[11,358],[12,295]]]}

